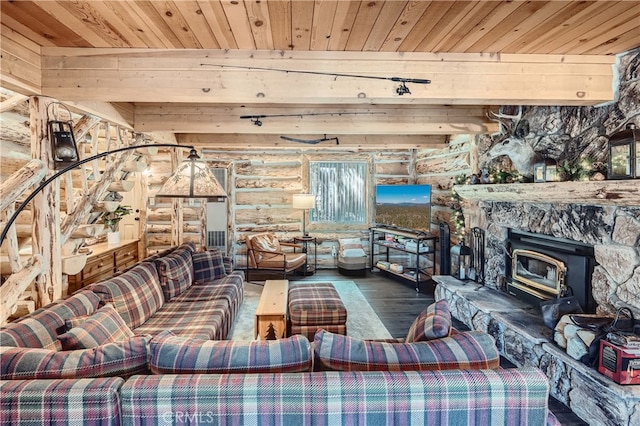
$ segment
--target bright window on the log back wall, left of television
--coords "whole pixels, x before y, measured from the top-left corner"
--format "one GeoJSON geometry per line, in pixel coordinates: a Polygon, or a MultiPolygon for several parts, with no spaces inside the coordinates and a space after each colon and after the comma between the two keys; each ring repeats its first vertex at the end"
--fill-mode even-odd
{"type": "Polygon", "coordinates": [[[310,161],[309,191],[316,196],[309,222],[367,222],[366,162],[310,161]]]}

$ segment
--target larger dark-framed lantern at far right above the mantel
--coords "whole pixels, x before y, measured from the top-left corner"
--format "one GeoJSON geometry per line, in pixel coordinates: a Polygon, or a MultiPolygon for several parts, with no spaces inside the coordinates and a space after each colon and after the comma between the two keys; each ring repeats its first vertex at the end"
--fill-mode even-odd
{"type": "Polygon", "coordinates": [[[640,131],[633,123],[609,138],[609,179],[640,178],[640,131]]]}

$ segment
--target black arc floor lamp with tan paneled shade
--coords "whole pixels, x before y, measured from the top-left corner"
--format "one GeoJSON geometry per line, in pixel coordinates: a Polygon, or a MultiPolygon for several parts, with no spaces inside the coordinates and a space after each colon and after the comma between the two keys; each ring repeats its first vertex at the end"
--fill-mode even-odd
{"type": "Polygon", "coordinates": [[[222,188],[215,175],[204,161],[200,159],[198,153],[193,146],[188,145],[176,145],[176,144],[149,144],[149,145],[135,145],[127,146],[124,148],[118,148],[111,151],[102,152],[100,154],[87,157],[85,159],[68,164],[56,172],[51,177],[47,178],[40,184],[29,196],[16,208],[13,215],[7,221],[2,234],[0,235],[0,245],[4,242],[11,225],[16,221],[18,215],[24,208],[31,202],[31,200],[46,188],[51,182],[56,180],[61,175],[67,173],[70,170],[77,168],[89,161],[97,160],[107,155],[115,154],[117,152],[129,151],[134,149],[146,148],[146,147],[170,147],[189,149],[189,156],[185,159],[176,169],[176,171],[167,179],[160,188],[160,191],[156,194],[156,197],[178,197],[178,198],[206,198],[211,201],[224,201],[227,197],[225,190],[222,188]]]}

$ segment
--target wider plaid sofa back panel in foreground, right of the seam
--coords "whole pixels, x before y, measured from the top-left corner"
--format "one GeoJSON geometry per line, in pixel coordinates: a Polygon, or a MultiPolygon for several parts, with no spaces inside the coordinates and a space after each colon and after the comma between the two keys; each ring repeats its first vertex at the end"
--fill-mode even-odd
{"type": "Polygon", "coordinates": [[[545,425],[537,369],[135,376],[125,425],[545,425]]]}

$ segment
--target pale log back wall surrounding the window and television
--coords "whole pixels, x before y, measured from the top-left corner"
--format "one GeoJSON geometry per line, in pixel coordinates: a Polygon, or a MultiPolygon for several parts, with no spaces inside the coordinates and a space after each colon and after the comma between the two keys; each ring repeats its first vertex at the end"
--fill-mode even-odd
{"type": "MultiPolygon", "coordinates": [[[[357,138],[356,136],[351,136],[357,138]]],[[[181,143],[190,144],[188,138],[181,143]]],[[[232,141],[230,141],[233,144],[232,141]]],[[[238,142],[236,142],[237,144],[238,142]]],[[[357,141],[356,141],[357,143],[357,141]]],[[[393,145],[391,140],[390,145],[393,145]]],[[[308,162],[323,161],[366,161],[372,173],[371,185],[376,183],[430,183],[433,185],[436,214],[433,222],[449,220],[447,203],[450,203],[454,178],[470,169],[468,150],[472,143],[470,136],[459,137],[447,148],[439,149],[385,149],[375,148],[298,148],[298,149],[213,149],[203,148],[203,157],[213,167],[229,168],[229,229],[232,244],[230,251],[235,255],[236,265],[245,264],[244,238],[247,234],[269,231],[283,241],[292,241],[302,233],[302,212],[291,208],[292,196],[307,190],[308,162]],[[444,160],[443,160],[444,159],[444,160]],[[446,159],[452,160],[451,165],[446,159]],[[444,195],[446,194],[446,196],[444,195]],[[438,211],[441,210],[441,212],[438,211]]],[[[299,147],[299,144],[298,144],[299,147]]],[[[168,155],[154,157],[149,176],[149,195],[157,191],[170,173],[168,155]],[[162,161],[162,160],[165,161],[162,161]],[[158,176],[157,172],[163,176],[158,176]]],[[[200,204],[192,207],[182,203],[185,224],[180,228],[190,238],[197,237],[200,204]],[[188,224],[187,224],[188,222],[188,224]]],[[[373,218],[373,195],[369,200],[370,220],[373,218]]],[[[175,241],[175,215],[171,200],[150,199],[146,206],[147,255],[170,247],[175,241]]],[[[205,223],[202,224],[202,232],[205,223]]],[[[370,223],[360,226],[307,224],[307,231],[318,239],[318,267],[335,268],[336,259],[332,248],[338,238],[360,236],[368,238],[370,223]]],[[[436,229],[434,225],[434,229],[436,229]]],[[[199,243],[200,241],[196,241],[199,243]]],[[[203,245],[206,242],[202,241],[203,245]]]]}

